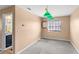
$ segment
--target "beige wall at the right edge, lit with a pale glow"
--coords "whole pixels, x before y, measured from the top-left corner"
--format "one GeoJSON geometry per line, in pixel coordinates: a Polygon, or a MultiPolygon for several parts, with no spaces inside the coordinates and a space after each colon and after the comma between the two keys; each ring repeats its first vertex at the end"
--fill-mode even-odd
{"type": "Polygon", "coordinates": [[[79,8],[71,15],[70,31],[72,43],[79,50],[79,8]]]}

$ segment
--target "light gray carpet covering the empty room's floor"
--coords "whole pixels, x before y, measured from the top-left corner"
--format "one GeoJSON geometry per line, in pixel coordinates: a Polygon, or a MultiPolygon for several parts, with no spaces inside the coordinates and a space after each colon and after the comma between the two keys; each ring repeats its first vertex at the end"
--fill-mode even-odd
{"type": "Polygon", "coordinates": [[[21,54],[77,54],[70,42],[41,39],[21,54]]]}

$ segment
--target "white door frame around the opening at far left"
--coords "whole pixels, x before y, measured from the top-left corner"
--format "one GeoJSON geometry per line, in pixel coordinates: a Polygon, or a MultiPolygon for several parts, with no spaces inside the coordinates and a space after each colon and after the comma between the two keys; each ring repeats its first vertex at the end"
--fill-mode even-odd
{"type": "Polygon", "coordinates": [[[5,31],[6,31],[6,27],[5,27],[5,16],[6,15],[12,15],[12,46],[10,46],[10,47],[8,47],[8,48],[11,48],[11,47],[13,47],[13,25],[14,25],[14,23],[13,23],[13,20],[14,20],[14,14],[13,13],[4,13],[4,14],[2,14],[2,50],[7,50],[8,48],[6,48],[6,40],[5,40],[5,38],[6,38],[6,34],[5,34],[5,31]]]}

